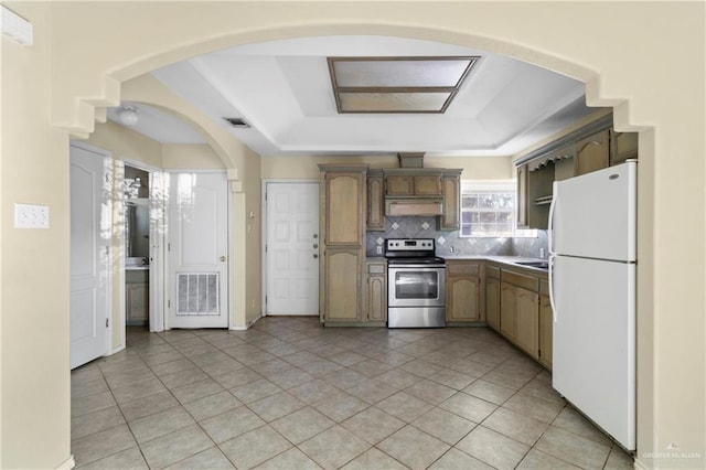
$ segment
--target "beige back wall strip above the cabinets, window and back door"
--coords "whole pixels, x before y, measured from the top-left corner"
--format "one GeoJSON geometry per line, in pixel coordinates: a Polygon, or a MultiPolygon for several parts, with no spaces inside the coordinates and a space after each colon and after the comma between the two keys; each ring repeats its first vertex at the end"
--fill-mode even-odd
{"type": "MultiPolygon", "coordinates": [[[[318,179],[319,163],[367,163],[372,169],[397,168],[396,156],[351,157],[263,157],[263,179],[318,179]]],[[[426,157],[426,168],[460,168],[464,180],[512,180],[515,169],[510,157],[426,157]]]]}

